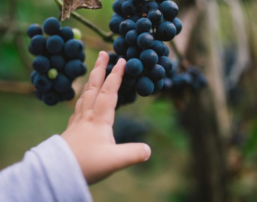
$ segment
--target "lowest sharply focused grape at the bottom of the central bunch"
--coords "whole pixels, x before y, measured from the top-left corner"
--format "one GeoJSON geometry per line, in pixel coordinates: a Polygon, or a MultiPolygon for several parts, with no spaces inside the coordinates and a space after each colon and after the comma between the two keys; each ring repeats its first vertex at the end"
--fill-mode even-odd
{"type": "Polygon", "coordinates": [[[136,92],[142,97],[149,96],[154,90],[154,83],[146,76],[142,76],[136,82],[136,92]]]}

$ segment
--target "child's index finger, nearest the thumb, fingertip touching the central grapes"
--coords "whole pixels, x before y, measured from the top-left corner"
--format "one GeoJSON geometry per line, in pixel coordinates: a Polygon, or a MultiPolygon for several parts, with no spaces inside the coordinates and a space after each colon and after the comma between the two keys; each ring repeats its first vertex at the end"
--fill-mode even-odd
{"type": "Polygon", "coordinates": [[[121,86],[122,77],[125,73],[126,60],[120,58],[113,67],[112,72],[107,76],[101,88],[93,113],[108,124],[113,125],[115,108],[118,100],[118,90],[121,86]]]}

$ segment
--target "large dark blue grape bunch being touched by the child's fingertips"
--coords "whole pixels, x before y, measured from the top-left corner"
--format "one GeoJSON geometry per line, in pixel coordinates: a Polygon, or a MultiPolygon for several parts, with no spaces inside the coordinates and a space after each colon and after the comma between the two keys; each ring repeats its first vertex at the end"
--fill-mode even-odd
{"type": "Polygon", "coordinates": [[[109,27],[121,36],[115,39],[109,54],[107,75],[117,58],[127,60],[126,73],[119,90],[118,106],[133,102],[136,93],[149,96],[163,87],[163,78],[172,70],[169,49],[171,41],[182,30],[173,1],[116,0],[109,27]]]}

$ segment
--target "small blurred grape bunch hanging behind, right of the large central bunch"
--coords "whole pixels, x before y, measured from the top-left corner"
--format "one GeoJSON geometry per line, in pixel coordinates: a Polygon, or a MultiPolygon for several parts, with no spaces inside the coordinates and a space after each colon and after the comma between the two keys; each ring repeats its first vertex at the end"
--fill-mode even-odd
{"type": "Polygon", "coordinates": [[[163,79],[162,91],[173,94],[181,94],[185,89],[192,92],[201,90],[207,85],[207,79],[196,66],[188,66],[182,72],[178,72],[176,62],[173,62],[171,72],[163,79]]]}

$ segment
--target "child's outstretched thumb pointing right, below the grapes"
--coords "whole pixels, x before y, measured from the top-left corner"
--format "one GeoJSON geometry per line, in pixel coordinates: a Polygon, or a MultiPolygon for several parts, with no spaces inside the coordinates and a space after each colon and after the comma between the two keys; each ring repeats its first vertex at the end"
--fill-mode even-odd
{"type": "Polygon", "coordinates": [[[151,149],[144,143],[126,143],[115,145],[116,169],[122,169],[130,165],[144,162],[149,159],[151,149]]]}

